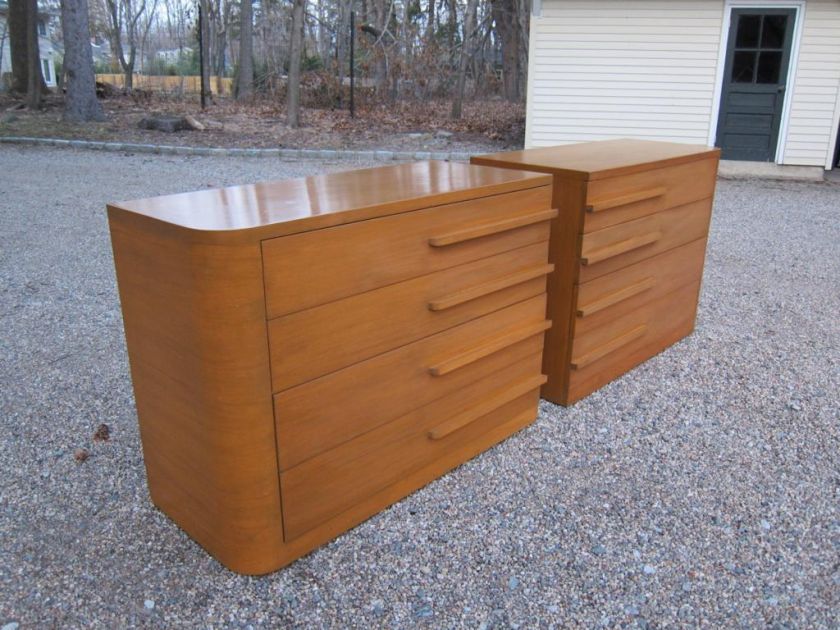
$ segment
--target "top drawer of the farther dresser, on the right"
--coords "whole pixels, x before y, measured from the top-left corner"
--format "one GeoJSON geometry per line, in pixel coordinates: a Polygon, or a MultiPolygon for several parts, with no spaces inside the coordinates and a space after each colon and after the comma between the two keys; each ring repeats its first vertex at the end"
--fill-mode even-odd
{"type": "Polygon", "coordinates": [[[717,158],[589,183],[583,232],[682,206],[714,195],[717,158]]]}

